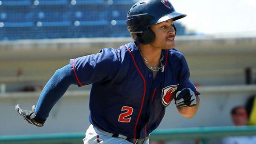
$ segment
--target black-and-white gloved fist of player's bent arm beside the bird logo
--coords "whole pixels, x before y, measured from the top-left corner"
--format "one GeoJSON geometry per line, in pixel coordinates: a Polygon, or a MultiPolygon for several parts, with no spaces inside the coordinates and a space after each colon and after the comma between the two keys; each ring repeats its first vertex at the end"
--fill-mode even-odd
{"type": "Polygon", "coordinates": [[[176,93],[175,104],[178,107],[196,105],[195,93],[190,88],[184,88],[176,93]]]}

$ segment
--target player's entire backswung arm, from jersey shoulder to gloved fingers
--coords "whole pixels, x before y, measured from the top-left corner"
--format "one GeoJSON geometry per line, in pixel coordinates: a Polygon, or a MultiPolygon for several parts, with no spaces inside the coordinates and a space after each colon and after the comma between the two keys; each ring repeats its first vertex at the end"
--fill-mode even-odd
{"type": "Polygon", "coordinates": [[[116,49],[105,48],[96,55],[71,59],[70,64],[57,70],[43,89],[36,107],[24,111],[16,105],[16,111],[29,123],[43,126],[49,112],[71,84],[79,87],[102,80],[111,80],[119,70],[120,58],[116,49]]]}

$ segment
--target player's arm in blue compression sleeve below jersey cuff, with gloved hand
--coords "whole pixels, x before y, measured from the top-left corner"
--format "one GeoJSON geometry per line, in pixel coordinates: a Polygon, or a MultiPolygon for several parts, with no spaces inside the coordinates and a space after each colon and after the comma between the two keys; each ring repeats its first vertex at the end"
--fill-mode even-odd
{"type": "Polygon", "coordinates": [[[43,126],[56,102],[71,84],[75,84],[71,72],[69,65],[58,69],[43,88],[36,107],[33,106],[31,111],[26,111],[17,104],[15,106],[16,111],[30,124],[38,127],[43,126]]]}

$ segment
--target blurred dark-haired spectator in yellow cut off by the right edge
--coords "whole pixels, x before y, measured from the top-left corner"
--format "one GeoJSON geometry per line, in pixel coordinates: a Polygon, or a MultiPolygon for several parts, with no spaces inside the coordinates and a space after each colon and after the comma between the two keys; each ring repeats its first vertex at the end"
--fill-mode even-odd
{"type": "Polygon", "coordinates": [[[248,98],[246,110],[248,112],[248,125],[256,125],[256,95],[248,98]]]}

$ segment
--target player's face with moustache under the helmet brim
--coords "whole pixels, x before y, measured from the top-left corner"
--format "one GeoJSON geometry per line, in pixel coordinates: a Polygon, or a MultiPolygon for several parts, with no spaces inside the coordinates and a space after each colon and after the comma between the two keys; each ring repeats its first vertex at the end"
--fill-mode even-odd
{"type": "Polygon", "coordinates": [[[161,22],[159,24],[154,24],[149,28],[155,34],[155,40],[150,43],[152,47],[162,49],[171,49],[175,47],[175,30],[172,19],[161,22]]]}

